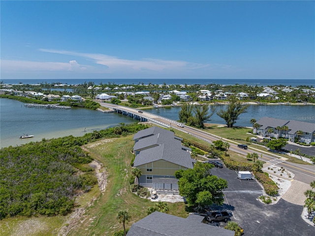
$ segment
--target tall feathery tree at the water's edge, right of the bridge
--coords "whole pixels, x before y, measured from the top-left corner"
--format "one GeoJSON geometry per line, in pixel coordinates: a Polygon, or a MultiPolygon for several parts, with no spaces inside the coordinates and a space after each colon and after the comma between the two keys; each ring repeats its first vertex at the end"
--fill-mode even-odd
{"type": "Polygon", "coordinates": [[[232,128],[239,115],[247,112],[247,107],[248,105],[243,105],[235,97],[232,97],[230,103],[227,105],[227,109],[221,109],[217,112],[217,115],[225,120],[228,128],[232,128]]]}

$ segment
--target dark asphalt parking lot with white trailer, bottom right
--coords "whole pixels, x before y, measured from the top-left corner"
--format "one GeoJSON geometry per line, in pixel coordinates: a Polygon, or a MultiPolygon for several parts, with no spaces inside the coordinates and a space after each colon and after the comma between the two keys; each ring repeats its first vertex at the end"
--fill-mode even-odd
{"type": "MultiPolygon", "coordinates": [[[[315,227],[302,218],[303,206],[281,199],[267,205],[258,201],[263,189],[256,180],[239,180],[237,172],[213,168],[212,174],[228,181],[224,191],[225,201],[221,210],[230,210],[232,221],[237,222],[245,235],[250,236],[313,236],[315,227]]],[[[223,224],[221,224],[223,226],[223,224]]]]}

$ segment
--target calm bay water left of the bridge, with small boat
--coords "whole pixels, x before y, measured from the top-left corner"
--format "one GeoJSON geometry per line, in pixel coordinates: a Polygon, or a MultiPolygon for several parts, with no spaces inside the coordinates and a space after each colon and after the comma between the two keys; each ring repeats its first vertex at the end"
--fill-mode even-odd
{"type": "Polygon", "coordinates": [[[119,123],[134,120],[116,113],[103,113],[84,108],[45,109],[26,107],[25,103],[0,99],[0,146],[20,145],[42,138],[68,135],[81,136],[86,132],[102,130],[119,123]],[[23,134],[34,135],[21,139],[23,134]]]}

